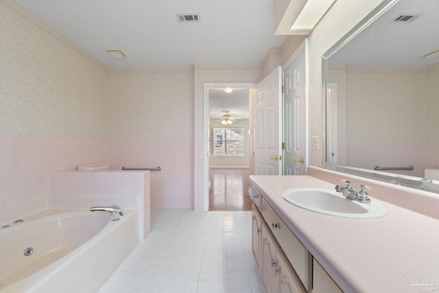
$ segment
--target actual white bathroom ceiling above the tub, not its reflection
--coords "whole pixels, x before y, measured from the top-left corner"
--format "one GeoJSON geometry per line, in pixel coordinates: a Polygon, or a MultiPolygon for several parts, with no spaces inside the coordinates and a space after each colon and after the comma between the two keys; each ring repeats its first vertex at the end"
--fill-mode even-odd
{"type": "Polygon", "coordinates": [[[262,63],[285,40],[274,36],[272,0],[15,1],[108,67],[262,63]],[[201,21],[179,23],[179,13],[201,21]]]}

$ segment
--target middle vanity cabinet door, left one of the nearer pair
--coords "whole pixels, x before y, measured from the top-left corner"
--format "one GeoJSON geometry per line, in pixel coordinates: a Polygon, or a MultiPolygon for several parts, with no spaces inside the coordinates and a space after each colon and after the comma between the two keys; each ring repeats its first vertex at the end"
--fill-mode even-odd
{"type": "Polygon", "coordinates": [[[277,266],[275,243],[276,242],[274,242],[269,228],[266,224],[263,224],[261,281],[265,293],[275,292],[276,284],[274,283],[274,267],[277,266]]]}

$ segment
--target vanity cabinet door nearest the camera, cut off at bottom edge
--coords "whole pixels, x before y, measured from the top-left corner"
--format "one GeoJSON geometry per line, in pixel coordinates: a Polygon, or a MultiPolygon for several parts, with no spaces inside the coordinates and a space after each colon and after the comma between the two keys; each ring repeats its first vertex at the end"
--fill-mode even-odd
{"type": "Polygon", "coordinates": [[[306,293],[305,288],[303,288],[302,283],[300,283],[296,273],[289,266],[287,259],[278,251],[278,266],[275,270],[277,284],[277,293],[306,293]]]}

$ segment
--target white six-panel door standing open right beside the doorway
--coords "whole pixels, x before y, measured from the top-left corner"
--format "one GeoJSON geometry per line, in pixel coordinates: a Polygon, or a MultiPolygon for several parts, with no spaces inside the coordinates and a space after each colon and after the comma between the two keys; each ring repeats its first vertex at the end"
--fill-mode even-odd
{"type": "Polygon", "coordinates": [[[256,175],[282,174],[281,113],[282,68],[278,67],[255,86],[254,166],[256,175]]]}

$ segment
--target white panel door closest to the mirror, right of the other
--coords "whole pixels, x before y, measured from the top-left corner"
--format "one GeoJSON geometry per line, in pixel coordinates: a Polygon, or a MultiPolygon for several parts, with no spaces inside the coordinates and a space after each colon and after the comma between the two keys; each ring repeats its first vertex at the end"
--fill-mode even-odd
{"type": "Polygon", "coordinates": [[[305,43],[284,72],[283,174],[307,174],[307,98],[305,43]]]}

